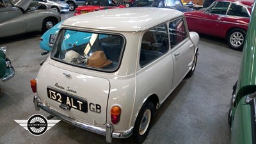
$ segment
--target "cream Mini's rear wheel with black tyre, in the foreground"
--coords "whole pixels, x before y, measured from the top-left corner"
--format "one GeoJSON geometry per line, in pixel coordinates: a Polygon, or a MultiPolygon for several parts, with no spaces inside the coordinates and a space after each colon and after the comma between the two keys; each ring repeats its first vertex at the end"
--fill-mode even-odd
{"type": "Polygon", "coordinates": [[[140,109],[132,131],[135,143],[142,143],[146,140],[154,116],[154,104],[146,101],[140,109]]]}

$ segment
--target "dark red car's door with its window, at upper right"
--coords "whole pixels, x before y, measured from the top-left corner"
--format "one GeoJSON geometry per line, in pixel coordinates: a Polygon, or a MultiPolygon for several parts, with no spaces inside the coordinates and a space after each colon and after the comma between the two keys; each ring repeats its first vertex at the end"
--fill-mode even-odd
{"type": "Polygon", "coordinates": [[[222,30],[223,18],[225,17],[230,2],[216,1],[203,14],[202,19],[198,19],[198,33],[220,36],[222,30]]]}

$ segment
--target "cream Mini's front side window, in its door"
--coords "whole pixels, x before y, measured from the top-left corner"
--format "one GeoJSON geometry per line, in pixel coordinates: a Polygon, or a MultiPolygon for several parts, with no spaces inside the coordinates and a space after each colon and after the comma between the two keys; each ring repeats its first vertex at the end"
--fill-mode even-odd
{"type": "Polygon", "coordinates": [[[182,42],[188,37],[187,31],[182,18],[176,19],[169,24],[169,35],[171,48],[182,42]]]}

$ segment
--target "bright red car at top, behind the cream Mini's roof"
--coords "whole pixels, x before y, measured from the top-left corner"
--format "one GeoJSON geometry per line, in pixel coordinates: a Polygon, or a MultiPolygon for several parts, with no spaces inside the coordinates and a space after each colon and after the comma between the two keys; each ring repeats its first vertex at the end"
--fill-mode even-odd
{"type": "Polygon", "coordinates": [[[116,4],[113,0],[88,0],[84,1],[83,6],[76,8],[75,15],[111,8],[125,8],[125,6],[116,4]]]}

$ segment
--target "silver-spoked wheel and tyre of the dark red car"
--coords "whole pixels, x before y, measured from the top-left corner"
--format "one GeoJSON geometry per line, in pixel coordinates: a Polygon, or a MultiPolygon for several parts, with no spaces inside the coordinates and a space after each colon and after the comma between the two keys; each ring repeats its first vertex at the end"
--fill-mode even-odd
{"type": "Polygon", "coordinates": [[[243,29],[232,29],[228,32],[227,41],[228,45],[231,49],[235,49],[237,51],[243,50],[244,40],[246,36],[246,31],[243,29]]]}

